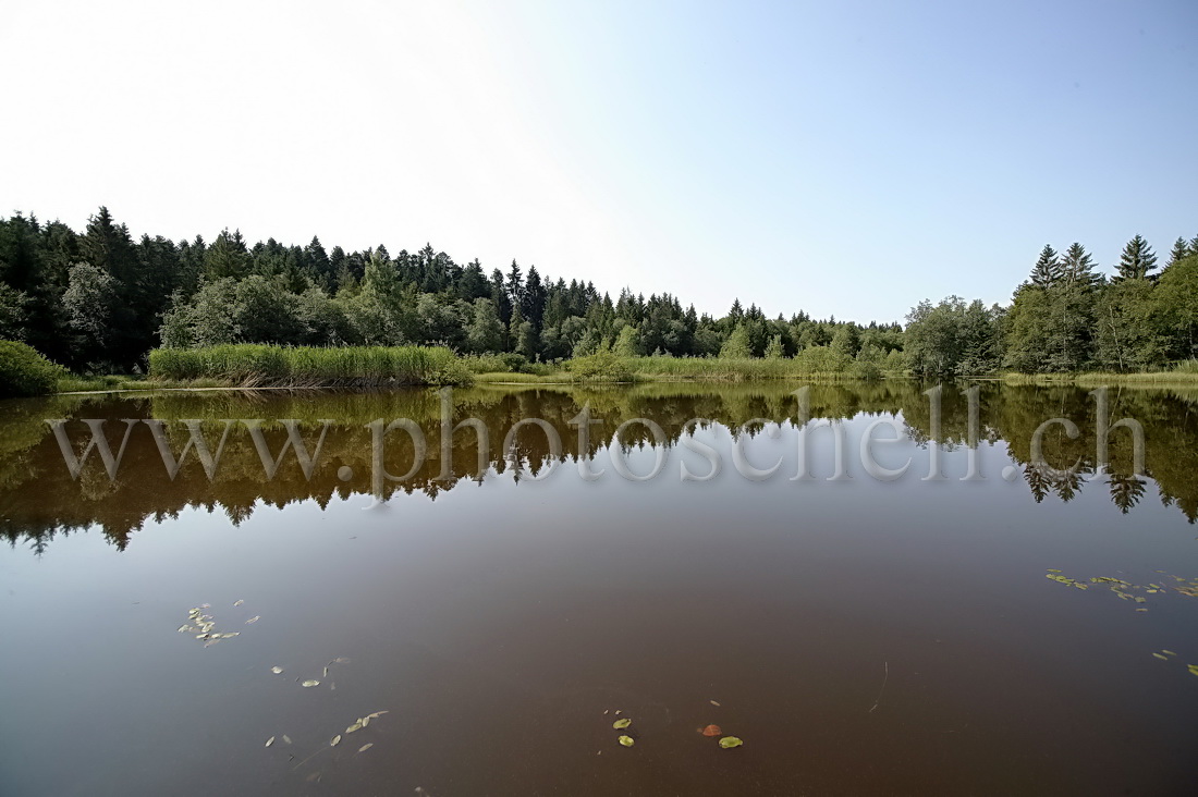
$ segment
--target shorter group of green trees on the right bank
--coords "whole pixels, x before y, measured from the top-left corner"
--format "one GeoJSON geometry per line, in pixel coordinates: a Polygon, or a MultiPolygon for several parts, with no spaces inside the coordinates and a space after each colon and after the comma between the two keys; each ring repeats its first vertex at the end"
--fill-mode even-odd
{"type": "Polygon", "coordinates": [[[957,296],[915,307],[906,357],[924,375],[1143,372],[1198,358],[1198,236],[1179,237],[1157,266],[1139,235],[1109,277],[1081,243],[1046,244],[1008,307],[957,296]]]}

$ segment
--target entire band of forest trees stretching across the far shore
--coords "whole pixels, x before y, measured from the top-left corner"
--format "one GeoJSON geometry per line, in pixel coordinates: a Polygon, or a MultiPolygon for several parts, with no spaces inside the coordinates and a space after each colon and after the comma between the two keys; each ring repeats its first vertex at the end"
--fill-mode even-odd
{"type": "Polygon", "coordinates": [[[249,244],[134,239],[101,207],[81,231],[16,213],[0,221],[0,339],[77,373],[143,373],[155,349],[220,344],[443,345],[508,370],[610,351],[625,357],[792,358],[835,370],[922,376],[1145,372],[1198,357],[1198,236],[1158,267],[1135,236],[1106,273],[1081,243],[1029,258],[1008,306],[949,296],[906,324],[767,318],[739,298],[713,318],[671,294],[543,274],[516,260],[488,273],[430,244],[391,254],[274,239],[249,244]],[[822,362],[823,362],[822,361],[822,362]]]}

